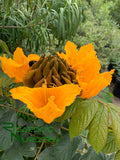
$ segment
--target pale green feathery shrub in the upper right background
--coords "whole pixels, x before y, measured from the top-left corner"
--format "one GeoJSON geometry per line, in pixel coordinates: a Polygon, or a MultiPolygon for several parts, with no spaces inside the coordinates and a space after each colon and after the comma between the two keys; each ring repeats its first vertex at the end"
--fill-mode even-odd
{"type": "Polygon", "coordinates": [[[116,51],[120,54],[119,29],[110,16],[110,8],[113,2],[101,3],[99,10],[93,13],[92,7],[86,11],[87,20],[79,27],[79,32],[73,38],[80,47],[92,43],[101,61],[101,70],[107,70],[110,63],[110,55],[116,51]]]}

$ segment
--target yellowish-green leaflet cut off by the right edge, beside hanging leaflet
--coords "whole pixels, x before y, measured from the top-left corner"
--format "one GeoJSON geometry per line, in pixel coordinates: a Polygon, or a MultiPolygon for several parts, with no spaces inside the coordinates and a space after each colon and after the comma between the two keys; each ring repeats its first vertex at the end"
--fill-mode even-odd
{"type": "Polygon", "coordinates": [[[111,123],[112,123],[113,133],[115,136],[115,141],[118,148],[120,148],[120,117],[112,109],[110,109],[110,115],[111,115],[111,123]]]}

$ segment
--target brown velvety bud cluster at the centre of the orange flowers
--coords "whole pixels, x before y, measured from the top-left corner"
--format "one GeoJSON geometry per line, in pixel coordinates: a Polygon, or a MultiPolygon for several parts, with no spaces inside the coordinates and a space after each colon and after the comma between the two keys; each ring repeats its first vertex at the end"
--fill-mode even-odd
{"type": "Polygon", "coordinates": [[[24,76],[23,82],[28,87],[58,87],[64,84],[77,83],[75,70],[66,60],[58,55],[41,56],[39,61],[30,63],[30,70],[24,76]]]}

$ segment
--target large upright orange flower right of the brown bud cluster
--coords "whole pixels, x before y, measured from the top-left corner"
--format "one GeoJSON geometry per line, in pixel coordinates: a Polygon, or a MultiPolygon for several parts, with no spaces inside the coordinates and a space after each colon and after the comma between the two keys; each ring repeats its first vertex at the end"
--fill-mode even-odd
{"type": "Polygon", "coordinates": [[[102,88],[110,84],[114,69],[99,73],[101,66],[92,44],[85,45],[78,51],[77,46],[68,41],[65,51],[66,54],[59,52],[57,54],[76,70],[76,79],[82,89],[80,97],[96,96],[102,88]]]}

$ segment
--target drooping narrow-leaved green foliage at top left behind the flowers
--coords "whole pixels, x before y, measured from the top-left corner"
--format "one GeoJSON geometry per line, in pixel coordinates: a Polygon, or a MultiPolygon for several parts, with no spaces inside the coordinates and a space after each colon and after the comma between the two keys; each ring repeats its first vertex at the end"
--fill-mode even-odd
{"type": "Polygon", "coordinates": [[[11,52],[19,45],[41,52],[56,38],[56,45],[70,39],[85,18],[84,5],[76,0],[2,0],[0,39],[11,52]]]}

